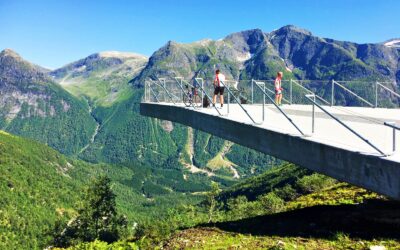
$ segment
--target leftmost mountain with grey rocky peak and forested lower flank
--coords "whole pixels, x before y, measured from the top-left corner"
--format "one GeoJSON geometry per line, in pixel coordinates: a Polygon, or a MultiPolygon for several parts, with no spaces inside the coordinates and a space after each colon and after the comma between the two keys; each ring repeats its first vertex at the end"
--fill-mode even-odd
{"type": "Polygon", "coordinates": [[[88,106],[10,49],[0,52],[0,128],[74,154],[90,140],[88,106]]]}

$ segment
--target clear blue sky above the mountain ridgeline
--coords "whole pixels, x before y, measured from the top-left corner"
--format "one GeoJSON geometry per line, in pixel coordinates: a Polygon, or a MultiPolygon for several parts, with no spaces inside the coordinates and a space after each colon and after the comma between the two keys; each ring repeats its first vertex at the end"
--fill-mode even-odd
{"type": "Polygon", "coordinates": [[[150,56],[168,40],[219,39],[293,24],[358,43],[400,37],[400,0],[0,0],[0,50],[57,68],[119,50],[150,56]]]}

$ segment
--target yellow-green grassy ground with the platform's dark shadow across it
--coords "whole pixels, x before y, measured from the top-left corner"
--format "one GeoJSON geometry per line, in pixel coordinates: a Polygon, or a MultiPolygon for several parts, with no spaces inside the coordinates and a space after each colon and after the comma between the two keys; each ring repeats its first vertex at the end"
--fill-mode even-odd
{"type": "Polygon", "coordinates": [[[280,213],[203,224],[175,233],[165,249],[400,249],[400,203],[339,183],[280,213]]]}

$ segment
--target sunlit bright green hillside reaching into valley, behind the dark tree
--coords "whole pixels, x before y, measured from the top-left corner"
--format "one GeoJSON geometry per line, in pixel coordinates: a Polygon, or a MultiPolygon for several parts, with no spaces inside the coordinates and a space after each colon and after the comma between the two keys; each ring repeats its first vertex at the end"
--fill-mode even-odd
{"type": "Polygon", "coordinates": [[[195,177],[184,180],[173,169],[89,164],[0,131],[0,249],[43,249],[55,222],[76,215],[83,189],[100,174],[111,178],[118,211],[130,225],[197,203],[201,196],[180,192],[205,191],[209,182],[195,177]]]}

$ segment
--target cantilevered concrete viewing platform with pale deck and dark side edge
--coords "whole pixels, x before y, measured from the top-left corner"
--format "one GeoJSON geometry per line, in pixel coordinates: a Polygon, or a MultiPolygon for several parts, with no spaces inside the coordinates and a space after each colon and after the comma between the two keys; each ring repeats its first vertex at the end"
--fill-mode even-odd
{"type": "MultiPolygon", "coordinates": [[[[219,105],[218,105],[219,106],[219,105]]],[[[244,105],[254,124],[238,104],[219,109],[185,107],[171,103],[141,103],[142,115],[178,122],[253,148],[313,171],[400,200],[400,154],[393,153],[393,129],[400,124],[400,110],[324,106],[331,114],[366,138],[365,141],[315,107],[312,133],[311,105],[284,105],[282,110],[302,135],[273,105],[244,105]],[[262,122],[262,123],[261,123],[262,122]]],[[[400,141],[400,140],[398,140],[400,141]]],[[[400,143],[396,142],[400,149],[400,143]]]]}

